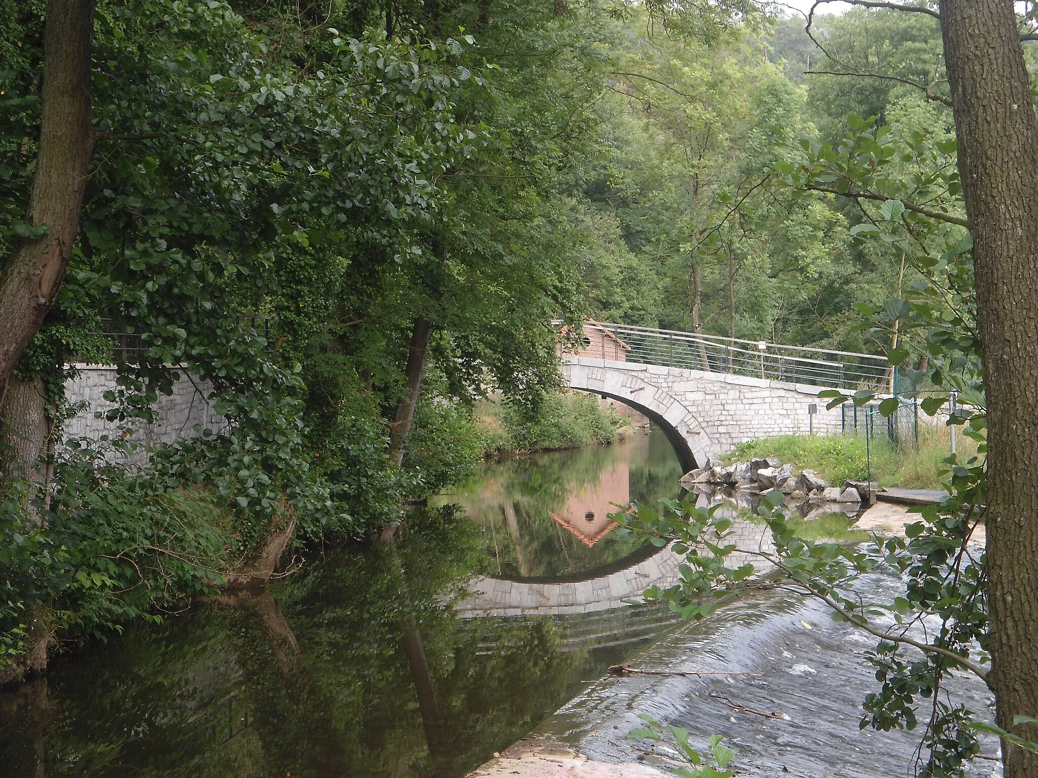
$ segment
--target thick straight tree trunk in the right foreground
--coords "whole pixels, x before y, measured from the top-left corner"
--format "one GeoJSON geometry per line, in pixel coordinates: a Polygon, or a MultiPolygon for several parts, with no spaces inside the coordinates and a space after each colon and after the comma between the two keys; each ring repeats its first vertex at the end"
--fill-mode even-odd
{"type": "MultiPolygon", "coordinates": [[[[987,568],[999,725],[1038,716],[1038,119],[1011,0],[943,0],[940,26],[974,238],[988,405],[987,568]]],[[[1006,778],[1038,754],[1003,743],[1006,778]]]]}

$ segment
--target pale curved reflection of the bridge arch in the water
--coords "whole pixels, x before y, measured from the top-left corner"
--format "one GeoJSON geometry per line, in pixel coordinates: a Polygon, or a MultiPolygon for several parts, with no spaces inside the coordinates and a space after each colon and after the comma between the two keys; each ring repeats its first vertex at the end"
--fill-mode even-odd
{"type": "Polygon", "coordinates": [[[670,547],[660,549],[626,569],[588,581],[509,581],[477,578],[468,596],[458,603],[462,618],[477,616],[534,616],[622,608],[625,600],[641,596],[653,584],[670,586],[678,580],[683,557],[670,547]]]}

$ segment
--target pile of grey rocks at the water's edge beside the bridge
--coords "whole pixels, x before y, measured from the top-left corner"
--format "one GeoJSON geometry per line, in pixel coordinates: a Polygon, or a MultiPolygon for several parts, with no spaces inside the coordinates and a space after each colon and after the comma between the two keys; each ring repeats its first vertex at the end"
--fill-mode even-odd
{"type": "Polygon", "coordinates": [[[801,470],[794,475],[793,468],[784,465],[781,460],[773,456],[737,462],[733,465],[708,462],[707,467],[686,473],[681,479],[681,485],[690,492],[704,487],[721,487],[750,492],[770,492],[777,489],[789,496],[787,502],[790,504],[862,502],[857,482],[847,481],[843,489],[830,487],[814,470],[801,470]]]}

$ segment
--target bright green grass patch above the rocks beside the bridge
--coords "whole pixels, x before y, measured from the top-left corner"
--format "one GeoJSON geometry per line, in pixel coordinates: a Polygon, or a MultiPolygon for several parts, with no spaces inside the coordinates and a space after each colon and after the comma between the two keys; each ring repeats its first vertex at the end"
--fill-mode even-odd
{"type": "MultiPolygon", "coordinates": [[[[957,436],[958,460],[965,462],[977,454],[977,443],[957,436]]],[[[872,479],[883,487],[902,489],[940,489],[947,479],[943,463],[951,453],[951,430],[943,424],[920,420],[919,446],[900,450],[885,439],[869,442],[866,456],[865,437],[855,435],[783,435],[740,443],[726,461],[776,456],[799,470],[815,470],[829,483],[865,480],[871,460],[872,479]]]]}

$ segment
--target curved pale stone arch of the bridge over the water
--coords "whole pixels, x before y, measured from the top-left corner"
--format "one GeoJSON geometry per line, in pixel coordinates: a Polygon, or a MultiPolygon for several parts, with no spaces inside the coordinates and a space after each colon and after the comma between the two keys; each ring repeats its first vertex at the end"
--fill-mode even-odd
{"type": "Polygon", "coordinates": [[[646,415],[674,446],[681,467],[704,467],[714,453],[703,423],[681,398],[651,383],[650,372],[665,367],[631,362],[607,362],[586,357],[563,357],[563,379],[570,389],[599,394],[623,402],[646,415]]]}

